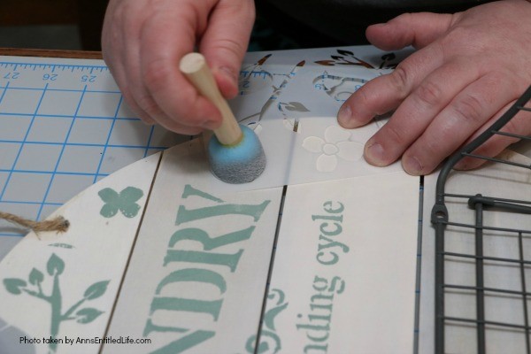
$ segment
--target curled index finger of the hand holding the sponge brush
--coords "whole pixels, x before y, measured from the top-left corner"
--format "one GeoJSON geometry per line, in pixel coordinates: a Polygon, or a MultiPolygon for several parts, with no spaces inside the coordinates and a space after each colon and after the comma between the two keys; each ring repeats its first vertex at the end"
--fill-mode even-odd
{"type": "Polygon", "coordinates": [[[215,106],[200,96],[179,71],[180,59],[194,50],[196,37],[207,26],[210,10],[206,3],[214,1],[170,6],[142,27],[142,84],[157,109],[164,112],[155,118],[172,130],[181,125],[212,129],[221,121],[215,106]]]}

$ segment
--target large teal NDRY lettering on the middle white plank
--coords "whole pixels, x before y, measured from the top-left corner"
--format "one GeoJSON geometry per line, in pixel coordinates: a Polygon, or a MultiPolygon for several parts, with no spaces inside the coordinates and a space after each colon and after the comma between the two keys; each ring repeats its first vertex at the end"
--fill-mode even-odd
{"type": "MultiPolygon", "coordinates": [[[[152,353],[181,353],[215,335],[215,332],[211,330],[163,326],[157,323],[158,316],[155,312],[175,312],[174,315],[177,315],[177,312],[185,312],[187,316],[206,314],[212,317],[213,322],[217,321],[222,311],[223,296],[227,291],[227,281],[223,274],[227,273],[227,268],[231,273],[235,273],[244,250],[243,248],[234,250],[234,245],[250,239],[256,228],[256,225],[251,224],[258,222],[267,205],[270,204],[269,200],[258,204],[230,204],[217,196],[195,189],[191,185],[184,186],[181,198],[183,203],[178,207],[175,225],[181,226],[189,223],[190,227],[178,229],[170,236],[162,263],[162,266],[168,268],[170,273],[158,282],[150,304],[150,315],[143,331],[144,336],[154,333],[168,335],[173,333],[179,338],[152,353]],[[204,205],[197,207],[198,201],[203,202],[204,205]],[[187,205],[189,203],[193,203],[194,209],[189,208],[187,205]],[[220,217],[219,222],[224,222],[229,216],[240,217],[239,223],[247,222],[248,225],[221,235],[209,235],[204,230],[204,226],[212,227],[218,222],[218,219],[212,218],[220,217]],[[190,242],[199,243],[199,248],[189,249],[190,242]],[[232,246],[228,252],[224,251],[227,246],[232,246]],[[212,250],[216,251],[212,252],[212,250]],[[171,271],[173,266],[178,269],[171,271]],[[183,282],[212,285],[217,289],[204,291],[197,296],[198,298],[195,296],[183,298],[178,286],[168,286],[183,282]]],[[[213,229],[216,228],[213,227],[213,229]]],[[[186,326],[186,323],[183,320],[180,324],[186,326]]]]}

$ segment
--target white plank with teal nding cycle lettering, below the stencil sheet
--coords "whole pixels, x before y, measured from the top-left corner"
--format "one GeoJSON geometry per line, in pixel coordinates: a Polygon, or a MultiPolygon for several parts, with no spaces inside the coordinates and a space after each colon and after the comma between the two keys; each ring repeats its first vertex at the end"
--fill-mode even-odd
{"type": "Polygon", "coordinates": [[[404,172],[289,187],[261,344],[412,353],[418,212],[404,172]]]}

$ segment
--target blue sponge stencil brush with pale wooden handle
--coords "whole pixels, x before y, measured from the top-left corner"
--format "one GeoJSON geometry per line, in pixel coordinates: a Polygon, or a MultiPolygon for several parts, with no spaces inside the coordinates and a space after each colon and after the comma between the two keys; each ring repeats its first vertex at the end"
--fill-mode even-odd
{"type": "Polygon", "coordinates": [[[227,183],[246,183],[258,178],[266,168],[266,154],[258,136],[249,127],[239,125],[221,96],[204,56],[189,53],[181,59],[181,73],[202,96],[218,107],[223,119],[208,144],[212,173],[227,183]]]}

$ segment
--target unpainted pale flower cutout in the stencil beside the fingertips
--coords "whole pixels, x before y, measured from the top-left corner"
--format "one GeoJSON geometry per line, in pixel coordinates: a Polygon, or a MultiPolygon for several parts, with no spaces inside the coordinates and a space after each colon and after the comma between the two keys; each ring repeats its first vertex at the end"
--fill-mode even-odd
{"type": "Polygon", "coordinates": [[[350,132],[341,127],[331,126],[325,130],[325,140],[318,136],[304,139],[303,148],[321,155],[315,166],[319,172],[333,172],[337,167],[337,158],[358,161],[363,156],[363,144],[350,142],[350,132]]]}

